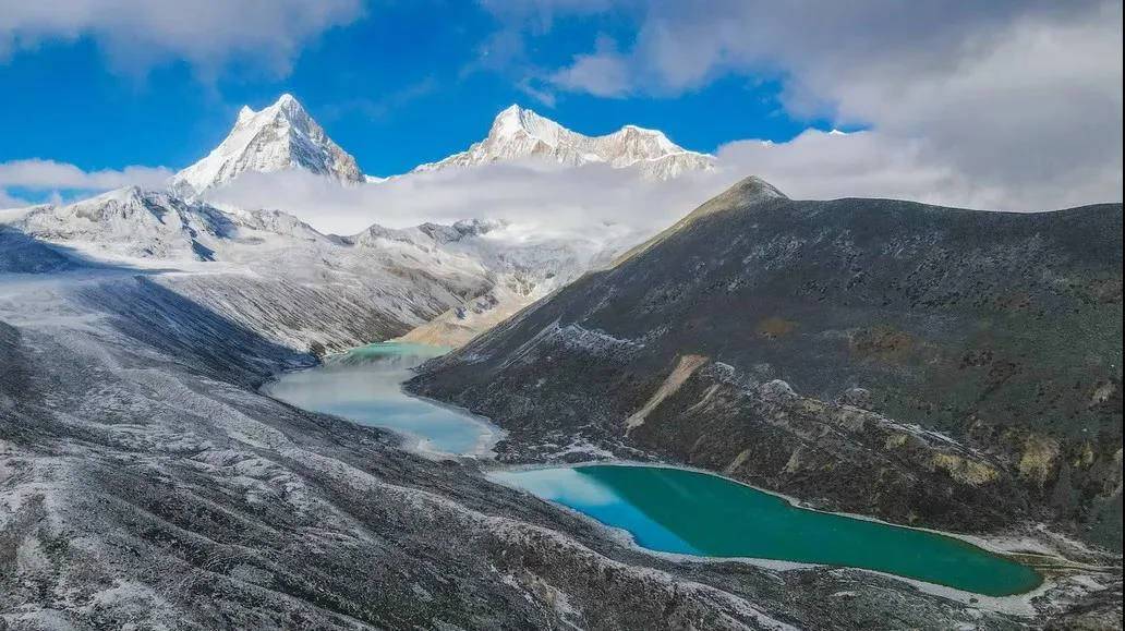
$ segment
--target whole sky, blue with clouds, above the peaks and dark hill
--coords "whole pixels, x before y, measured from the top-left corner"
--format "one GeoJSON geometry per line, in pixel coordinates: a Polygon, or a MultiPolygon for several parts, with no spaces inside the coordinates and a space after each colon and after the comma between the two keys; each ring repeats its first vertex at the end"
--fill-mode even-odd
{"type": "Polygon", "coordinates": [[[282,92],[370,174],[464,150],[518,102],[585,134],[659,128],[802,197],[1119,200],[1122,13],[1122,0],[0,0],[0,207],[159,186],[242,105],[282,92]],[[831,128],[863,133],[826,141],[831,128]]]}

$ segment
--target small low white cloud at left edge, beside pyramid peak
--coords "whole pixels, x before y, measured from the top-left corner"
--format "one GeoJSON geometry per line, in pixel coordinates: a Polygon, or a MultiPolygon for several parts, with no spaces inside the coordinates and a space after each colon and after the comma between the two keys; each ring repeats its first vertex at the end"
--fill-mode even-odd
{"type": "MultiPolygon", "coordinates": [[[[171,175],[172,172],[162,166],[83,171],[73,164],[52,160],[15,160],[0,162],[0,192],[6,192],[4,189],[9,188],[33,191],[104,191],[130,184],[163,188],[171,175]]],[[[10,191],[7,195],[11,195],[10,191]]]]}

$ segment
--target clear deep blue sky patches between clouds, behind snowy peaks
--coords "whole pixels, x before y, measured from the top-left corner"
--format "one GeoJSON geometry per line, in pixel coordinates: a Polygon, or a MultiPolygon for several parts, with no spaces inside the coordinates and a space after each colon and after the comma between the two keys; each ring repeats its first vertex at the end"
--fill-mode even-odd
{"type": "MultiPolygon", "coordinates": [[[[231,64],[205,76],[182,60],[119,67],[91,37],[47,40],[0,63],[0,162],[51,159],[83,170],[129,164],[179,169],[225,136],[237,109],[294,93],[369,173],[405,172],[484,137],[492,117],[519,102],[587,134],[627,123],[665,130],[714,151],[735,138],[784,141],[809,120],[786,115],[778,84],[727,76],[678,94],[600,98],[521,89],[519,71],[486,65],[500,26],[477,4],[400,4],[310,38],[291,73],[231,64]],[[65,87],[65,88],[63,88],[65,87]]],[[[533,63],[565,63],[576,43],[630,25],[614,17],[562,20],[528,51],[533,63]]],[[[824,121],[820,121],[824,124],[824,121]]]]}

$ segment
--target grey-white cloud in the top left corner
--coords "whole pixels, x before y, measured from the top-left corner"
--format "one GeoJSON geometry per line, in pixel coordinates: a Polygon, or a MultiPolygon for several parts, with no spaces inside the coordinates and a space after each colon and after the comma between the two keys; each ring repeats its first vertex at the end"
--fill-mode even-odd
{"type": "Polygon", "coordinates": [[[363,0],[0,0],[0,60],[91,37],[125,66],[186,58],[214,71],[238,58],[284,72],[302,44],[362,12],[363,0]]]}

